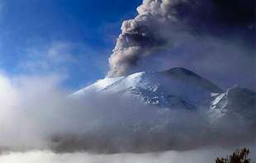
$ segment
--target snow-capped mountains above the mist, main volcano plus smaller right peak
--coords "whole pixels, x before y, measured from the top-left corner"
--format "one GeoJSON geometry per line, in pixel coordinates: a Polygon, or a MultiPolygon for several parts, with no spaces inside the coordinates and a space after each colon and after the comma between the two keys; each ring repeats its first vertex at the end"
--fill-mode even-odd
{"type": "Polygon", "coordinates": [[[230,113],[255,113],[256,93],[239,86],[223,91],[211,81],[185,68],[164,72],[137,72],[127,77],[98,80],[70,95],[83,99],[92,94],[118,94],[145,105],[168,109],[208,108],[212,119],[230,113]],[[247,110],[249,109],[249,111],[247,110]]]}

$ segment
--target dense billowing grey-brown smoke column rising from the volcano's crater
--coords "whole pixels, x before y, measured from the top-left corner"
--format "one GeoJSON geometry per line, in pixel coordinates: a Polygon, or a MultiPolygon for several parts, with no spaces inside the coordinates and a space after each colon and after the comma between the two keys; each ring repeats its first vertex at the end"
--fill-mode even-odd
{"type": "Polygon", "coordinates": [[[130,73],[140,59],[166,44],[158,30],[161,24],[164,25],[173,18],[167,10],[172,3],[173,1],[145,0],[137,8],[139,15],[133,20],[123,22],[121,35],[109,58],[108,77],[130,73]]]}

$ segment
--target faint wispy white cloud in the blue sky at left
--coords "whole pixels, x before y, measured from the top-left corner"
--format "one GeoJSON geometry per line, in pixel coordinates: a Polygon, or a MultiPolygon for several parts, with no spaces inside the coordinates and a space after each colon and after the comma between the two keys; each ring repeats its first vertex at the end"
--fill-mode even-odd
{"type": "Polygon", "coordinates": [[[26,72],[66,72],[69,64],[76,62],[74,48],[74,44],[64,41],[27,48],[26,58],[18,68],[26,72]]]}

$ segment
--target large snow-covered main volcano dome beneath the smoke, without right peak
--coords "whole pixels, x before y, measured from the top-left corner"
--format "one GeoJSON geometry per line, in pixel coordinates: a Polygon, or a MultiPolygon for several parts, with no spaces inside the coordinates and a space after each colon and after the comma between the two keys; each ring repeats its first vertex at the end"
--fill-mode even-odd
{"type": "Polygon", "coordinates": [[[120,93],[147,105],[167,108],[196,109],[212,93],[222,93],[220,87],[185,68],[171,68],[165,72],[138,72],[127,77],[105,78],[73,93],[84,98],[92,93],[120,93]]]}

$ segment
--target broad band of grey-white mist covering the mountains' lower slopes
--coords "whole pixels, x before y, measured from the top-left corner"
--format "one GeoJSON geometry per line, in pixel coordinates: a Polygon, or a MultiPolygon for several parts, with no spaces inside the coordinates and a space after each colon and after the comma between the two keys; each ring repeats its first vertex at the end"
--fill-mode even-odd
{"type": "Polygon", "coordinates": [[[58,74],[0,79],[1,151],[141,153],[255,142],[252,124],[212,123],[206,108],[163,109],[121,95],[75,99],[58,74]]]}

